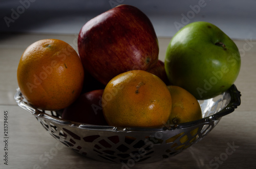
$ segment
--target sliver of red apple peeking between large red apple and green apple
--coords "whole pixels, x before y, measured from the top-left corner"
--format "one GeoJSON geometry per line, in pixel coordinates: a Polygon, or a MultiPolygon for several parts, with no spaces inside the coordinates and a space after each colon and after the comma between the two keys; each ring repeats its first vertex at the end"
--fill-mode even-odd
{"type": "Polygon", "coordinates": [[[169,80],[166,75],[163,61],[158,60],[157,64],[152,69],[150,69],[148,72],[159,77],[166,85],[170,85],[169,80]]]}

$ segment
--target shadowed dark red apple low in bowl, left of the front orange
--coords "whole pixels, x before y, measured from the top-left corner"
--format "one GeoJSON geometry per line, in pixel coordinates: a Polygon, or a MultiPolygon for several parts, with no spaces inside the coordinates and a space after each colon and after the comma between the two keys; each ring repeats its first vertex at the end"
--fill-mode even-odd
{"type": "Polygon", "coordinates": [[[62,118],[84,124],[108,125],[101,107],[102,94],[102,89],[81,94],[72,105],[63,110],[62,118]]]}

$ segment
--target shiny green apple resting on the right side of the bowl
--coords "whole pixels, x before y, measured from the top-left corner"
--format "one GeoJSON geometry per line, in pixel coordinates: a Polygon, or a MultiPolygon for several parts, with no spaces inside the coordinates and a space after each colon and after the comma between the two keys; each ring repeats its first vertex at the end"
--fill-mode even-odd
{"type": "Polygon", "coordinates": [[[222,30],[197,21],[170,40],[164,64],[170,83],[204,100],[221,94],[236,81],[241,57],[237,45],[222,30]]]}

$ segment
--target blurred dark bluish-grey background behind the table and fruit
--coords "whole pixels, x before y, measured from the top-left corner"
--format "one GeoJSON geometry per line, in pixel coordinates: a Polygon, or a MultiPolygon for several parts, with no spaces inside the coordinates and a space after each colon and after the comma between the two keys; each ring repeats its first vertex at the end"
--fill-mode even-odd
{"type": "Polygon", "coordinates": [[[91,18],[115,5],[129,4],[142,10],[151,19],[158,36],[170,37],[177,32],[174,23],[181,23],[182,14],[187,16],[189,11],[191,14],[190,7],[199,3],[204,4],[204,7],[198,13],[194,12],[195,15],[191,15],[188,22],[208,21],[228,32],[231,38],[256,39],[254,0],[1,0],[0,33],[78,34],[91,18]],[[14,19],[7,23],[7,18],[14,19]]]}

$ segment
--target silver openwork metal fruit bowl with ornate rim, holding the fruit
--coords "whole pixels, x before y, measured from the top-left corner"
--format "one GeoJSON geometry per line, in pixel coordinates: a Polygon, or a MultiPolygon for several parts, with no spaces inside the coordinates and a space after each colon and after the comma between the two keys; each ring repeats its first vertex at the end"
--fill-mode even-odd
{"type": "Polygon", "coordinates": [[[86,157],[112,163],[147,163],[174,156],[204,138],[221,117],[236,109],[240,91],[232,85],[208,100],[200,100],[203,118],[178,126],[118,128],[61,119],[61,111],[44,111],[29,105],[19,89],[14,99],[29,111],[54,138],[86,157]]]}

